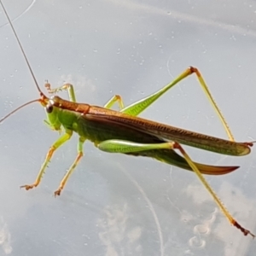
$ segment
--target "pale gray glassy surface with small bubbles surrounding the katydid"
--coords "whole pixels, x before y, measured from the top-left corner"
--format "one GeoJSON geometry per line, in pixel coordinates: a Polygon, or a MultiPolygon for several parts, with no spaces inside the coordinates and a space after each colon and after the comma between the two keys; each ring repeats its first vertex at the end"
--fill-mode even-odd
{"type": "MultiPolygon", "coordinates": [[[[237,141],[256,139],[256,2],[3,1],[41,84],[72,82],[79,102],[126,104],[201,69],[237,141]]],[[[38,97],[0,10],[0,116],[38,97]]],[[[66,96],[62,94],[61,96],[66,96]]],[[[195,77],[143,117],[226,138],[195,77]]],[[[254,255],[255,241],[231,227],[194,173],[150,159],[85,156],[61,197],[77,136],[58,150],[37,189],[32,183],[58,137],[34,104],[0,125],[0,255],[254,255]]],[[[256,233],[256,151],[230,157],[187,148],[193,159],[239,165],[207,177],[230,212],[256,233]]]]}

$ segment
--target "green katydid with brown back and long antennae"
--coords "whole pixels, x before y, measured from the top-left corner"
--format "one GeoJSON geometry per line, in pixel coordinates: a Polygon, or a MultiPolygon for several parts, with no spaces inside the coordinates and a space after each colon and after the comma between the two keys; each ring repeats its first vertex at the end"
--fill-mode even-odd
{"type": "Polygon", "coordinates": [[[49,125],[49,127],[55,131],[65,131],[64,134],[59,137],[49,148],[36,181],[31,185],[21,186],[21,188],[28,190],[38,186],[45,172],[46,166],[48,166],[49,160],[51,159],[55,150],[61,147],[63,143],[66,143],[67,140],[72,137],[73,132],[76,132],[79,135],[78,155],[74,160],[73,165],[69,168],[66,175],[61,180],[59,188],[55,191],[55,195],[61,195],[61,190],[67,183],[68,177],[70,177],[70,175],[73,173],[75,167],[79,163],[79,160],[83,156],[84,142],[86,140],[90,140],[95,144],[96,148],[109,153],[147,156],[167,164],[195,172],[208,192],[212,195],[218,207],[220,207],[220,209],[224,212],[226,218],[229,219],[230,224],[236,226],[236,228],[241,230],[245,236],[249,234],[255,237],[253,233],[244,229],[236,222],[236,219],[230,215],[230,212],[226,210],[223,203],[218,199],[218,196],[214,193],[202,175],[222,175],[235,171],[239,166],[207,166],[196,163],[190,159],[189,155],[181,146],[181,144],[185,144],[195,148],[201,148],[212,152],[229,155],[249,154],[250,148],[253,146],[253,143],[250,142],[236,143],[234,141],[230,128],[224,120],[222,113],[219,111],[217,104],[214,102],[212,95],[207,88],[207,84],[205,83],[198,69],[195,67],[189,67],[183,73],[181,73],[177,79],[174,79],[172,83],[167,84],[154,94],[147,96],[128,107],[124,107],[120,96],[113,96],[113,98],[104,106],[104,108],[90,106],[89,104],[85,103],[77,103],[72,84],[64,84],[60,88],[56,89],[51,89],[49,84],[45,84],[46,89],[51,94],[57,93],[60,90],[67,90],[69,101],[63,100],[59,96],[47,97],[39,88],[37,79],[32,72],[32,67],[26,58],[26,54],[20,44],[20,40],[15,32],[15,28],[9,19],[9,15],[4,9],[2,1],[0,1],[0,3],[3,7],[5,15],[7,16],[7,19],[9,20],[9,25],[11,26],[12,31],[15,33],[15,38],[20,46],[22,55],[26,60],[26,64],[30,70],[30,73],[32,74],[32,78],[40,95],[40,98],[31,102],[26,102],[19,108],[16,108],[14,111],[3,117],[3,119],[0,120],[0,123],[3,122],[4,119],[7,119],[12,113],[18,111],[20,108],[23,108],[32,102],[40,102],[46,111],[48,119],[46,123],[49,125]],[[148,108],[148,106],[155,102],[160,96],[165,94],[167,90],[171,89],[175,84],[182,79],[185,79],[192,73],[195,73],[202,89],[205,91],[209,101],[212,103],[212,107],[216,113],[218,113],[218,117],[223,123],[224,129],[227,132],[230,140],[211,137],[193,131],[186,131],[177,127],[164,125],[148,119],[137,117],[137,115],[142,113],[144,109],[148,108]],[[115,102],[119,103],[120,111],[110,109],[115,102]],[[178,150],[182,156],[177,154],[175,150],[178,150]]]}

